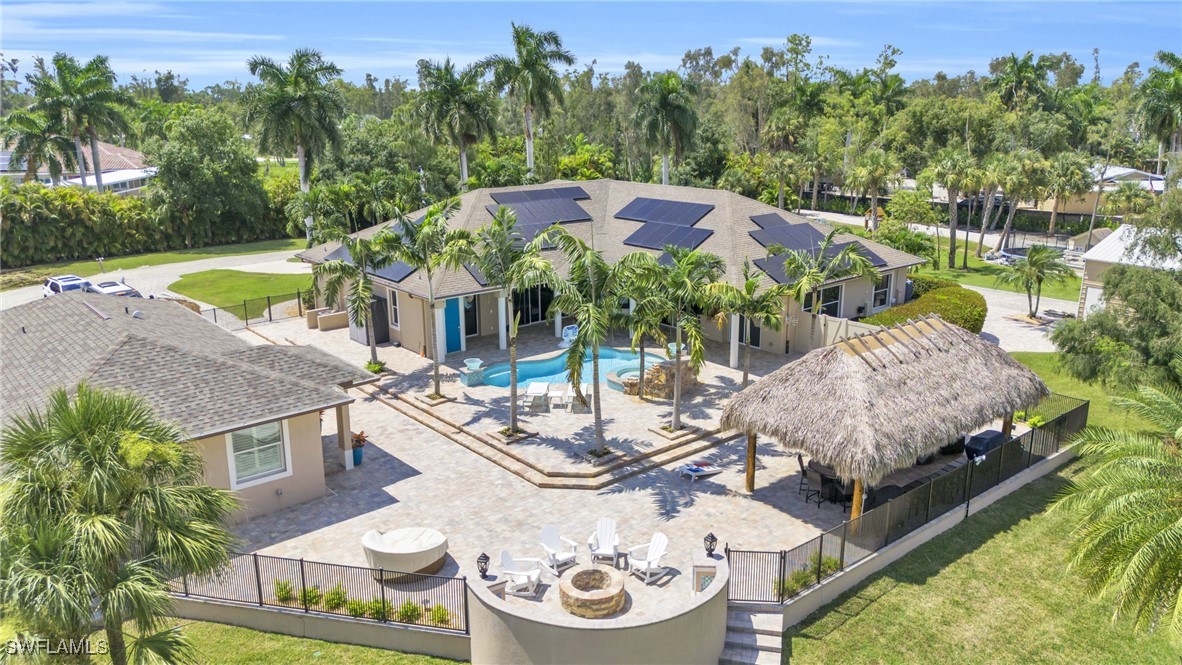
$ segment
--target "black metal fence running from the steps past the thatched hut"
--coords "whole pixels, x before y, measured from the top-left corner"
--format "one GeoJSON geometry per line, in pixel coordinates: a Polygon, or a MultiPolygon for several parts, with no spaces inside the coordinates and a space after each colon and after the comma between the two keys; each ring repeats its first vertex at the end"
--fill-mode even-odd
{"type": "Polygon", "coordinates": [[[1054,455],[1087,424],[1087,400],[1051,395],[1026,411],[1030,431],[1000,448],[868,510],[819,536],[779,552],[727,548],[729,599],[784,602],[836,575],[936,517],[1054,455]]]}

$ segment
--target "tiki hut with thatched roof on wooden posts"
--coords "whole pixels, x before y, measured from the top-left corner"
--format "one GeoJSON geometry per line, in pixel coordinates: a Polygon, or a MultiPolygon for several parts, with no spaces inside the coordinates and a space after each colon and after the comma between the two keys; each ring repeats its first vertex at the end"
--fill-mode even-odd
{"type": "Polygon", "coordinates": [[[873,485],[957,436],[1035,404],[1050,391],[995,344],[939,317],[811,351],[736,395],[722,426],[747,432],[747,491],[764,435],[873,485]]]}

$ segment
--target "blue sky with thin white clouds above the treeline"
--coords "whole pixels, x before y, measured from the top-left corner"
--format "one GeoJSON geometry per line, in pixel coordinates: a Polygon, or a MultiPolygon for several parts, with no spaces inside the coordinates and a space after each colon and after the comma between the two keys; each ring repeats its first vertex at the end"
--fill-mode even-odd
{"type": "Polygon", "coordinates": [[[469,63],[509,50],[509,22],[556,30],[598,71],[635,60],[649,70],[676,67],[689,48],[733,46],[758,58],[790,33],[813,38],[830,63],[872,66],[883,44],[903,50],[898,72],[927,78],[975,70],[1011,51],[1067,51],[1086,65],[1100,50],[1110,80],[1131,61],[1147,69],[1158,50],[1182,51],[1182,2],[202,2],[4,0],[2,52],[27,72],[33,56],[103,53],[121,80],[173,70],[203,87],[251,80],[247,58],[285,58],[319,48],[363,80],[397,76],[415,83],[420,58],[469,63]]]}

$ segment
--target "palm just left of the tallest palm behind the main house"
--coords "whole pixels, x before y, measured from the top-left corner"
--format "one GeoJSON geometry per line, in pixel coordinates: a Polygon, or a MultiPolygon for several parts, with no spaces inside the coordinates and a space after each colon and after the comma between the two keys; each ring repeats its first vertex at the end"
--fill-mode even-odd
{"type": "Polygon", "coordinates": [[[460,150],[460,187],[468,187],[468,145],[496,133],[496,99],[480,85],[481,70],[470,65],[459,74],[450,58],[443,64],[418,61],[416,113],[434,141],[447,139],[460,150]]]}

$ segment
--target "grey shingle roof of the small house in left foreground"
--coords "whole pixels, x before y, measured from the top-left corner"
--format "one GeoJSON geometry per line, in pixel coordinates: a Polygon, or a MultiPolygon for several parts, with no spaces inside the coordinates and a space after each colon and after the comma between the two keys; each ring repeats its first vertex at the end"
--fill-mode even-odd
{"type": "Polygon", "coordinates": [[[0,341],[5,418],[86,382],[143,397],[194,438],[348,404],[337,386],[374,379],[318,348],[251,346],[165,300],[69,292],[0,311],[0,341]]]}

